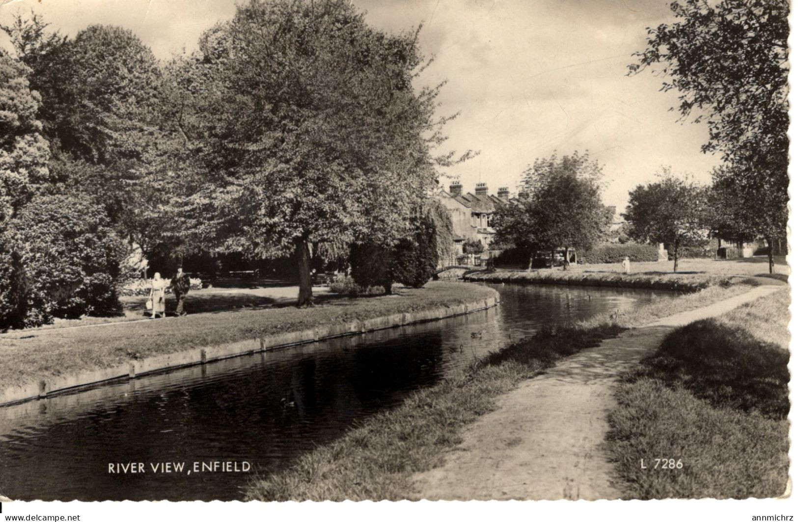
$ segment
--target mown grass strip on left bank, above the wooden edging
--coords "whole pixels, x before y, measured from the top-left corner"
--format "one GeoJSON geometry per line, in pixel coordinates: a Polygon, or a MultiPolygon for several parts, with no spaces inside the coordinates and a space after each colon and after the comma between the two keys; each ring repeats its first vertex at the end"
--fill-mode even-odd
{"type": "Polygon", "coordinates": [[[496,291],[479,285],[432,282],[421,289],[397,289],[392,296],[330,299],[314,308],[236,310],[4,334],[0,335],[0,383],[17,386],[193,347],[456,306],[495,295],[496,291]]]}

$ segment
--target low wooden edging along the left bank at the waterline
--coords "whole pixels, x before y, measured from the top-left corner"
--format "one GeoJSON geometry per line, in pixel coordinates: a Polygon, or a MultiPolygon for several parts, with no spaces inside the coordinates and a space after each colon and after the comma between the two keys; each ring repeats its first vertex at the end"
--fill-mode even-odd
{"type": "Polygon", "coordinates": [[[39,382],[29,383],[27,385],[12,386],[5,390],[0,390],[0,406],[33,401],[57,393],[65,393],[84,387],[97,386],[105,382],[139,378],[148,374],[174,370],[185,366],[206,364],[207,362],[239,357],[241,355],[279,350],[289,346],[344,337],[346,335],[365,334],[366,332],[375,330],[387,330],[397,326],[437,321],[443,318],[456,317],[457,315],[472,314],[480,310],[488,310],[488,308],[492,308],[498,304],[499,298],[498,295],[496,295],[495,297],[473,303],[440,306],[430,310],[420,310],[404,314],[391,314],[369,318],[363,321],[342,322],[319,326],[314,330],[286,332],[285,334],[228,342],[216,346],[192,348],[191,350],[183,350],[173,354],[156,355],[140,361],[129,361],[113,368],[85,371],[79,374],[42,379],[39,382]]]}

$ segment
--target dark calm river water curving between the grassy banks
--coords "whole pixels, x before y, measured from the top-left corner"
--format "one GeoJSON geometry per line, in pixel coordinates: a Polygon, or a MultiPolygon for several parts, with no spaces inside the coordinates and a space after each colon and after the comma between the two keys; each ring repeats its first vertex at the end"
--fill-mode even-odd
{"type": "Polygon", "coordinates": [[[468,316],[0,408],[0,494],[18,500],[241,499],[256,473],[285,469],[356,421],[397,405],[488,350],[543,325],[673,296],[492,286],[501,294],[500,306],[468,316]],[[247,461],[251,471],[186,473],[194,462],[213,461],[247,461]],[[109,464],[129,462],[144,463],[144,473],[109,473],[109,464]],[[151,465],[165,462],[186,467],[183,473],[153,473],[151,465]]]}

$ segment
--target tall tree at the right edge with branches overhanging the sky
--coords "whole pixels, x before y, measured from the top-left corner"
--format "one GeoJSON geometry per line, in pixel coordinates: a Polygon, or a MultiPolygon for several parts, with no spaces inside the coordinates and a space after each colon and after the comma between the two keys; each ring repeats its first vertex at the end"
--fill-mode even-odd
{"type": "MultiPolygon", "coordinates": [[[[678,91],[681,118],[706,122],[703,150],[726,163],[713,173],[721,212],[772,245],[787,227],[789,2],[685,0],[671,10],[678,22],[649,28],[631,72],[654,67],[662,90],[678,91]]],[[[770,258],[772,271],[772,249],[770,258]]]]}

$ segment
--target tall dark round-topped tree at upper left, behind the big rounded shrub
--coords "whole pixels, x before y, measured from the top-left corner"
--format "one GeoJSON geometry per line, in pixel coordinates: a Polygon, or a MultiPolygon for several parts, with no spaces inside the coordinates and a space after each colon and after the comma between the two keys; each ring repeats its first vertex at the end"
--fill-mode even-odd
{"type": "Polygon", "coordinates": [[[89,26],[74,38],[50,33],[33,14],[2,30],[41,93],[38,116],[53,152],[57,192],[102,194],[119,227],[142,201],[142,178],[160,168],[163,81],[152,51],[130,30],[89,26]]]}

